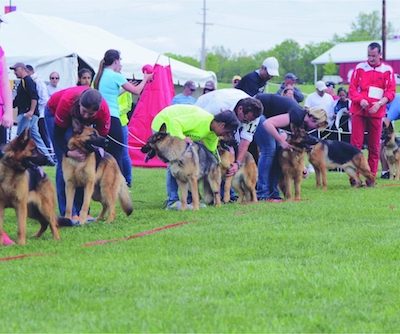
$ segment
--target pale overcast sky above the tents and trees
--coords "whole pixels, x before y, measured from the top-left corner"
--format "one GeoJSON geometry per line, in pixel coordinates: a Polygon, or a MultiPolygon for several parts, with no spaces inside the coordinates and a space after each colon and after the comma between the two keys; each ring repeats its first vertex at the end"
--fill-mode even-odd
{"type": "MultiPolygon", "coordinates": [[[[2,6],[9,2],[0,0],[2,6]]],[[[158,52],[200,55],[203,0],[11,2],[19,11],[97,25],[158,52]]],[[[400,0],[386,3],[387,22],[400,34],[400,0]]],[[[382,0],[207,0],[206,4],[207,48],[223,46],[251,54],[288,38],[304,45],[330,40],[334,33],[343,35],[360,12],[381,12],[382,0]]]]}

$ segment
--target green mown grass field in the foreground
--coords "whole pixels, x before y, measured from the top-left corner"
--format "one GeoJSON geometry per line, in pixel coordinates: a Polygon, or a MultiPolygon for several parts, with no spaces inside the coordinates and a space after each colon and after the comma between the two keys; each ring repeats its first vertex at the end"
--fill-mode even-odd
{"type": "MultiPolygon", "coordinates": [[[[328,191],[311,175],[300,202],[171,212],[165,170],[133,173],[131,217],[0,247],[41,255],[0,261],[0,332],[399,331],[399,182],[352,189],[330,172],[328,191]]],[[[10,209],[5,229],[16,237],[10,209]]]]}

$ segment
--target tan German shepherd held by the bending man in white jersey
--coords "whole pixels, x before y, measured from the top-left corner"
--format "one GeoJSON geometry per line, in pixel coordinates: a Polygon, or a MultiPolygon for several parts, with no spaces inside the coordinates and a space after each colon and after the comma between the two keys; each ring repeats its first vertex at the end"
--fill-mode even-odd
{"type": "Polygon", "coordinates": [[[250,152],[246,152],[239,170],[235,175],[226,176],[226,172],[231,168],[235,160],[235,155],[231,152],[229,146],[220,145],[218,152],[221,158],[221,174],[222,178],[225,179],[224,185],[224,198],[223,202],[228,203],[230,200],[230,189],[231,186],[238,193],[239,203],[246,202],[257,202],[256,194],[256,183],[258,177],[258,170],[253,155],[250,152]]]}

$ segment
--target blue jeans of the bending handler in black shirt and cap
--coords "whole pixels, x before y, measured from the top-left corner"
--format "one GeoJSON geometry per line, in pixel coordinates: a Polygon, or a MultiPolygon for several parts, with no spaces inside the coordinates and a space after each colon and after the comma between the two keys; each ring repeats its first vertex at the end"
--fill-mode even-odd
{"type": "MultiPolygon", "coordinates": [[[[259,147],[257,197],[260,199],[279,198],[279,162],[276,154],[278,143],[264,128],[265,116],[254,134],[254,140],[259,147]]],[[[268,122],[268,120],[267,120],[268,122]]]]}

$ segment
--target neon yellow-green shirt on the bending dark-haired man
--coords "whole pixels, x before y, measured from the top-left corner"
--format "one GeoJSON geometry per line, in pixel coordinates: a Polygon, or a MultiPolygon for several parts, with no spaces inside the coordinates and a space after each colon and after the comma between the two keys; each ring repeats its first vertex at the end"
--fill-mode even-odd
{"type": "Polygon", "coordinates": [[[193,141],[202,141],[205,147],[215,152],[218,146],[218,137],[211,130],[214,115],[204,109],[189,104],[174,104],[161,110],[151,123],[154,131],[159,131],[163,124],[167,132],[174,137],[193,141]]]}

